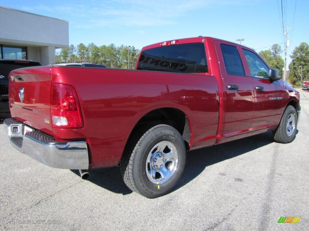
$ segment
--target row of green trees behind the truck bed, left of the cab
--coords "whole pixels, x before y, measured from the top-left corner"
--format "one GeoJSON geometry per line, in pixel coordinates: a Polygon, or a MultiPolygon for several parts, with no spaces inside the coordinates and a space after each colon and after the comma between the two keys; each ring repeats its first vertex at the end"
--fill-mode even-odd
{"type": "Polygon", "coordinates": [[[101,63],[109,68],[134,69],[140,50],[134,46],[126,47],[114,44],[108,46],[96,46],[94,43],[79,43],[76,47],[71,44],[68,48],[62,48],[56,54],[56,63],[94,62],[101,63]],[[129,55],[129,67],[128,67],[129,55]]]}

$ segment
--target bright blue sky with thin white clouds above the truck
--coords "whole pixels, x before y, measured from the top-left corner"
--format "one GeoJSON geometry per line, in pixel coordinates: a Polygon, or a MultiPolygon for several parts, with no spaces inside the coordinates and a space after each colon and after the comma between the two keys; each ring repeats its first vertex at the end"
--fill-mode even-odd
{"type": "MultiPolygon", "coordinates": [[[[309,43],[309,1],[283,0],[289,53],[309,43]],[[294,20],[293,20],[294,19],[294,20]],[[294,25],[293,25],[294,21],[294,25]]],[[[21,1],[1,5],[69,21],[69,42],[143,46],[172,39],[211,36],[259,49],[283,43],[281,0],[21,1]],[[280,17],[280,18],[279,18],[280,17]]],[[[283,48],[283,44],[281,44],[283,48]]]]}

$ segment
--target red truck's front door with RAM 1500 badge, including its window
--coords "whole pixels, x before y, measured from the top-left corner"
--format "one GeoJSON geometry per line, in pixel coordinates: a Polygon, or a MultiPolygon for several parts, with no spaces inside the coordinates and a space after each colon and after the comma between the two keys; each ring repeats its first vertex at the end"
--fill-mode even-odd
{"type": "Polygon", "coordinates": [[[269,67],[255,52],[245,48],[242,51],[254,89],[255,110],[252,128],[257,130],[277,126],[281,117],[283,87],[279,81],[270,81],[269,67]]]}

